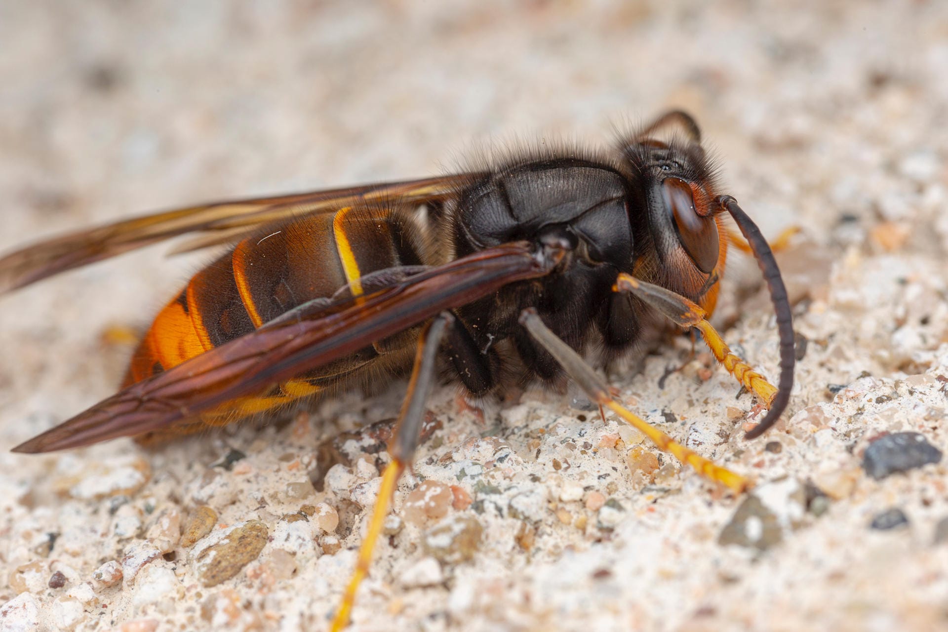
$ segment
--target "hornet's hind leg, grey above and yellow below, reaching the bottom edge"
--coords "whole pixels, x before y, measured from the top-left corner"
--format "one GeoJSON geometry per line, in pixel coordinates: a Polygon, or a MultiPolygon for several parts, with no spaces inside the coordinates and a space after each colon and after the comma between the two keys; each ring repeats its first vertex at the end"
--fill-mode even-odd
{"type": "Polygon", "coordinates": [[[411,370],[408,392],[398,413],[398,423],[395,425],[392,443],[389,445],[389,454],[392,462],[382,474],[382,485],[378,490],[369,531],[359,547],[356,570],[353,571],[349,585],[342,595],[336,618],[333,620],[332,631],[338,632],[349,623],[349,615],[356,603],[356,590],[369,572],[372,563],[372,553],[378,534],[382,531],[382,524],[388,515],[392,494],[402,472],[411,464],[415,448],[418,446],[418,437],[421,435],[422,419],[425,415],[425,402],[434,385],[434,367],[438,356],[438,347],[441,344],[445,328],[454,323],[454,316],[445,312],[432,320],[418,338],[418,347],[415,352],[414,367],[411,370]]]}

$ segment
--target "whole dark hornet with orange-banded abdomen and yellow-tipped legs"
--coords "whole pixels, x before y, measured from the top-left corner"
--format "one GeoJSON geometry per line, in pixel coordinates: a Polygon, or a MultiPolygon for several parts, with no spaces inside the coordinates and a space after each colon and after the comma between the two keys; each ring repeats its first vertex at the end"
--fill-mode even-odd
{"type": "Polygon", "coordinates": [[[155,318],[117,395],[15,448],[42,452],[118,436],[165,438],[226,424],[326,388],[411,371],[373,527],[337,616],[345,623],[374,537],[417,442],[439,358],[475,394],[518,367],[565,375],[710,479],[747,481],[673,442],[614,402],[581,359],[607,358],[669,324],[697,328],[767,416],[786,406],[793,330],[766,242],[721,196],[697,125],[671,112],[611,152],[549,152],[480,172],[188,208],[66,236],[0,260],[8,289],[204,231],[237,242],[155,318]],[[649,135],[677,124],[686,139],[649,135]],[[714,309],[730,213],[771,288],[781,341],[779,390],[731,353],[714,309]]]}

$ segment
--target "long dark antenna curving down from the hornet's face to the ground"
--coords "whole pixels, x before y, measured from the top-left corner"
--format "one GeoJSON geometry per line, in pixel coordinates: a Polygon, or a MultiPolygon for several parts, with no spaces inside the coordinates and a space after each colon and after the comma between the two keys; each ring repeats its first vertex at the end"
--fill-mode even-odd
{"type": "Polygon", "coordinates": [[[767,240],[760,233],[760,228],[757,228],[757,225],[748,217],[747,213],[738,207],[738,201],[730,195],[721,195],[718,198],[718,204],[731,214],[738,228],[740,228],[740,232],[743,233],[744,239],[751,246],[751,251],[757,260],[757,266],[760,268],[764,280],[767,281],[767,288],[770,290],[771,302],[774,303],[776,315],[777,333],[780,335],[780,381],[777,384],[774,401],[760,423],[744,435],[746,439],[756,439],[776,423],[776,420],[780,418],[780,414],[790,402],[790,391],[793,388],[793,366],[796,364],[793,347],[793,314],[790,309],[790,299],[787,298],[787,288],[783,284],[780,269],[776,265],[774,251],[771,250],[770,244],[767,244],[767,240]]]}

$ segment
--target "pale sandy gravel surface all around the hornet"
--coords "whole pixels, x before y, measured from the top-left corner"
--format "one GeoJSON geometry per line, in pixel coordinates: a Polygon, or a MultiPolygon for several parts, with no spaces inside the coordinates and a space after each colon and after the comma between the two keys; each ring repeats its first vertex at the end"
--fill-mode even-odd
{"type": "MultiPolygon", "coordinates": [[[[0,248],[683,107],[764,232],[802,228],[793,400],[744,441],[754,401],[685,340],[611,382],[757,488],[720,494],[572,391],[479,412],[438,388],[352,629],[946,629],[948,5],[823,5],[5,3],[0,248]]],[[[115,332],[208,261],[165,252],[3,298],[0,445],[113,392],[115,332]]],[[[775,377],[757,274],[732,258],[716,322],[775,377]]],[[[403,389],[153,450],[0,452],[0,630],[326,627],[403,389]]]]}

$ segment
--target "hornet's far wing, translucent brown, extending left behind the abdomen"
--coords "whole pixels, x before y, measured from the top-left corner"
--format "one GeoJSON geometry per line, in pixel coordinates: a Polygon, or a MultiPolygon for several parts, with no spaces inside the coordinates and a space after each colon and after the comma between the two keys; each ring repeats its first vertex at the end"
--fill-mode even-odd
{"type": "Polygon", "coordinates": [[[264,224],[357,204],[392,200],[414,204],[433,202],[458,190],[469,177],[470,174],[455,174],[218,202],[122,220],[54,237],[9,253],[0,259],[0,294],[189,232],[205,234],[178,251],[236,242],[264,224]]]}

